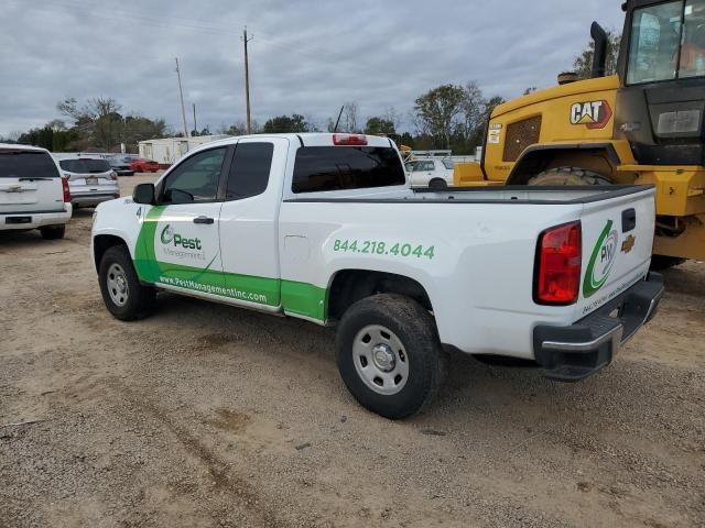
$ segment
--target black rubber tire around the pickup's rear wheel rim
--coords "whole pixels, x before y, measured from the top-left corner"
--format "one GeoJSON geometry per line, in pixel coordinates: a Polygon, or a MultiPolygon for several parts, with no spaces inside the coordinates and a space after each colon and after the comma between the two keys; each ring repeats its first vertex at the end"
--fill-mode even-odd
{"type": "MultiPolygon", "coordinates": [[[[375,349],[373,343],[369,344],[370,351],[375,349]]],[[[436,395],[447,371],[447,355],[438,341],[433,317],[419,302],[401,295],[376,295],[348,308],[338,326],[336,360],[340,377],[359,404],[390,419],[419,413],[436,395]],[[364,380],[356,366],[361,360],[355,352],[356,338],[364,336],[360,341],[365,341],[369,336],[364,332],[378,327],[391,331],[401,342],[397,361],[408,362],[405,382],[395,394],[380,394],[381,388],[370,388],[370,382],[364,380]]],[[[369,367],[377,369],[375,364],[369,367]]]]}

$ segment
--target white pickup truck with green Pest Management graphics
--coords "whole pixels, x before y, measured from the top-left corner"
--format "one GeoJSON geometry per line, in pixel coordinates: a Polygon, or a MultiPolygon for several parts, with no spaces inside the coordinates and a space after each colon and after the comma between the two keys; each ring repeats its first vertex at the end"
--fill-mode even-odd
{"type": "Polygon", "coordinates": [[[382,138],[209,143],[156,185],[98,206],[102,298],[123,320],[169,290],[337,324],[343,381],[389,418],[432,398],[448,351],[533,360],[577,381],[654,315],[651,187],[405,183],[382,138]]]}

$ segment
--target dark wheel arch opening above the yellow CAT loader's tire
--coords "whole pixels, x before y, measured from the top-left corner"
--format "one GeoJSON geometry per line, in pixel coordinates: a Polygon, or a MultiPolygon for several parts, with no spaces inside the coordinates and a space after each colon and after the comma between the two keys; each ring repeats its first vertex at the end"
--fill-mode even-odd
{"type": "Polygon", "coordinates": [[[521,154],[506,185],[527,185],[538,174],[563,166],[585,168],[615,180],[620,163],[611,143],[533,145],[521,154]]]}

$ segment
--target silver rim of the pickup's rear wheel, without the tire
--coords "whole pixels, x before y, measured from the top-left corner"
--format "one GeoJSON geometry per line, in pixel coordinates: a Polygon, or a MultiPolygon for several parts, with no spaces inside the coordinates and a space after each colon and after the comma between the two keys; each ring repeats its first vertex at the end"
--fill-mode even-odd
{"type": "Polygon", "coordinates": [[[404,345],[394,332],[380,324],[370,324],[357,332],[352,363],[365,385],[384,396],[399,393],[409,380],[404,345]]]}

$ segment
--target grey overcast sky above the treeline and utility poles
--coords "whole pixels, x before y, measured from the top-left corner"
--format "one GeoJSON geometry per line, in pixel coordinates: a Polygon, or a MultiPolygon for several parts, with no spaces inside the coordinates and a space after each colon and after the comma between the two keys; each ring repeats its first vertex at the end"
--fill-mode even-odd
{"type": "MultiPolygon", "coordinates": [[[[181,129],[174,57],[189,127],[245,121],[242,26],[252,118],[316,123],[357,101],[360,119],[441,84],[475,79],[506,98],[555,84],[589,40],[621,30],[620,0],[2,0],[0,135],[56,118],[56,102],[117,99],[181,129]]],[[[408,128],[410,123],[406,123],[408,128]]]]}

